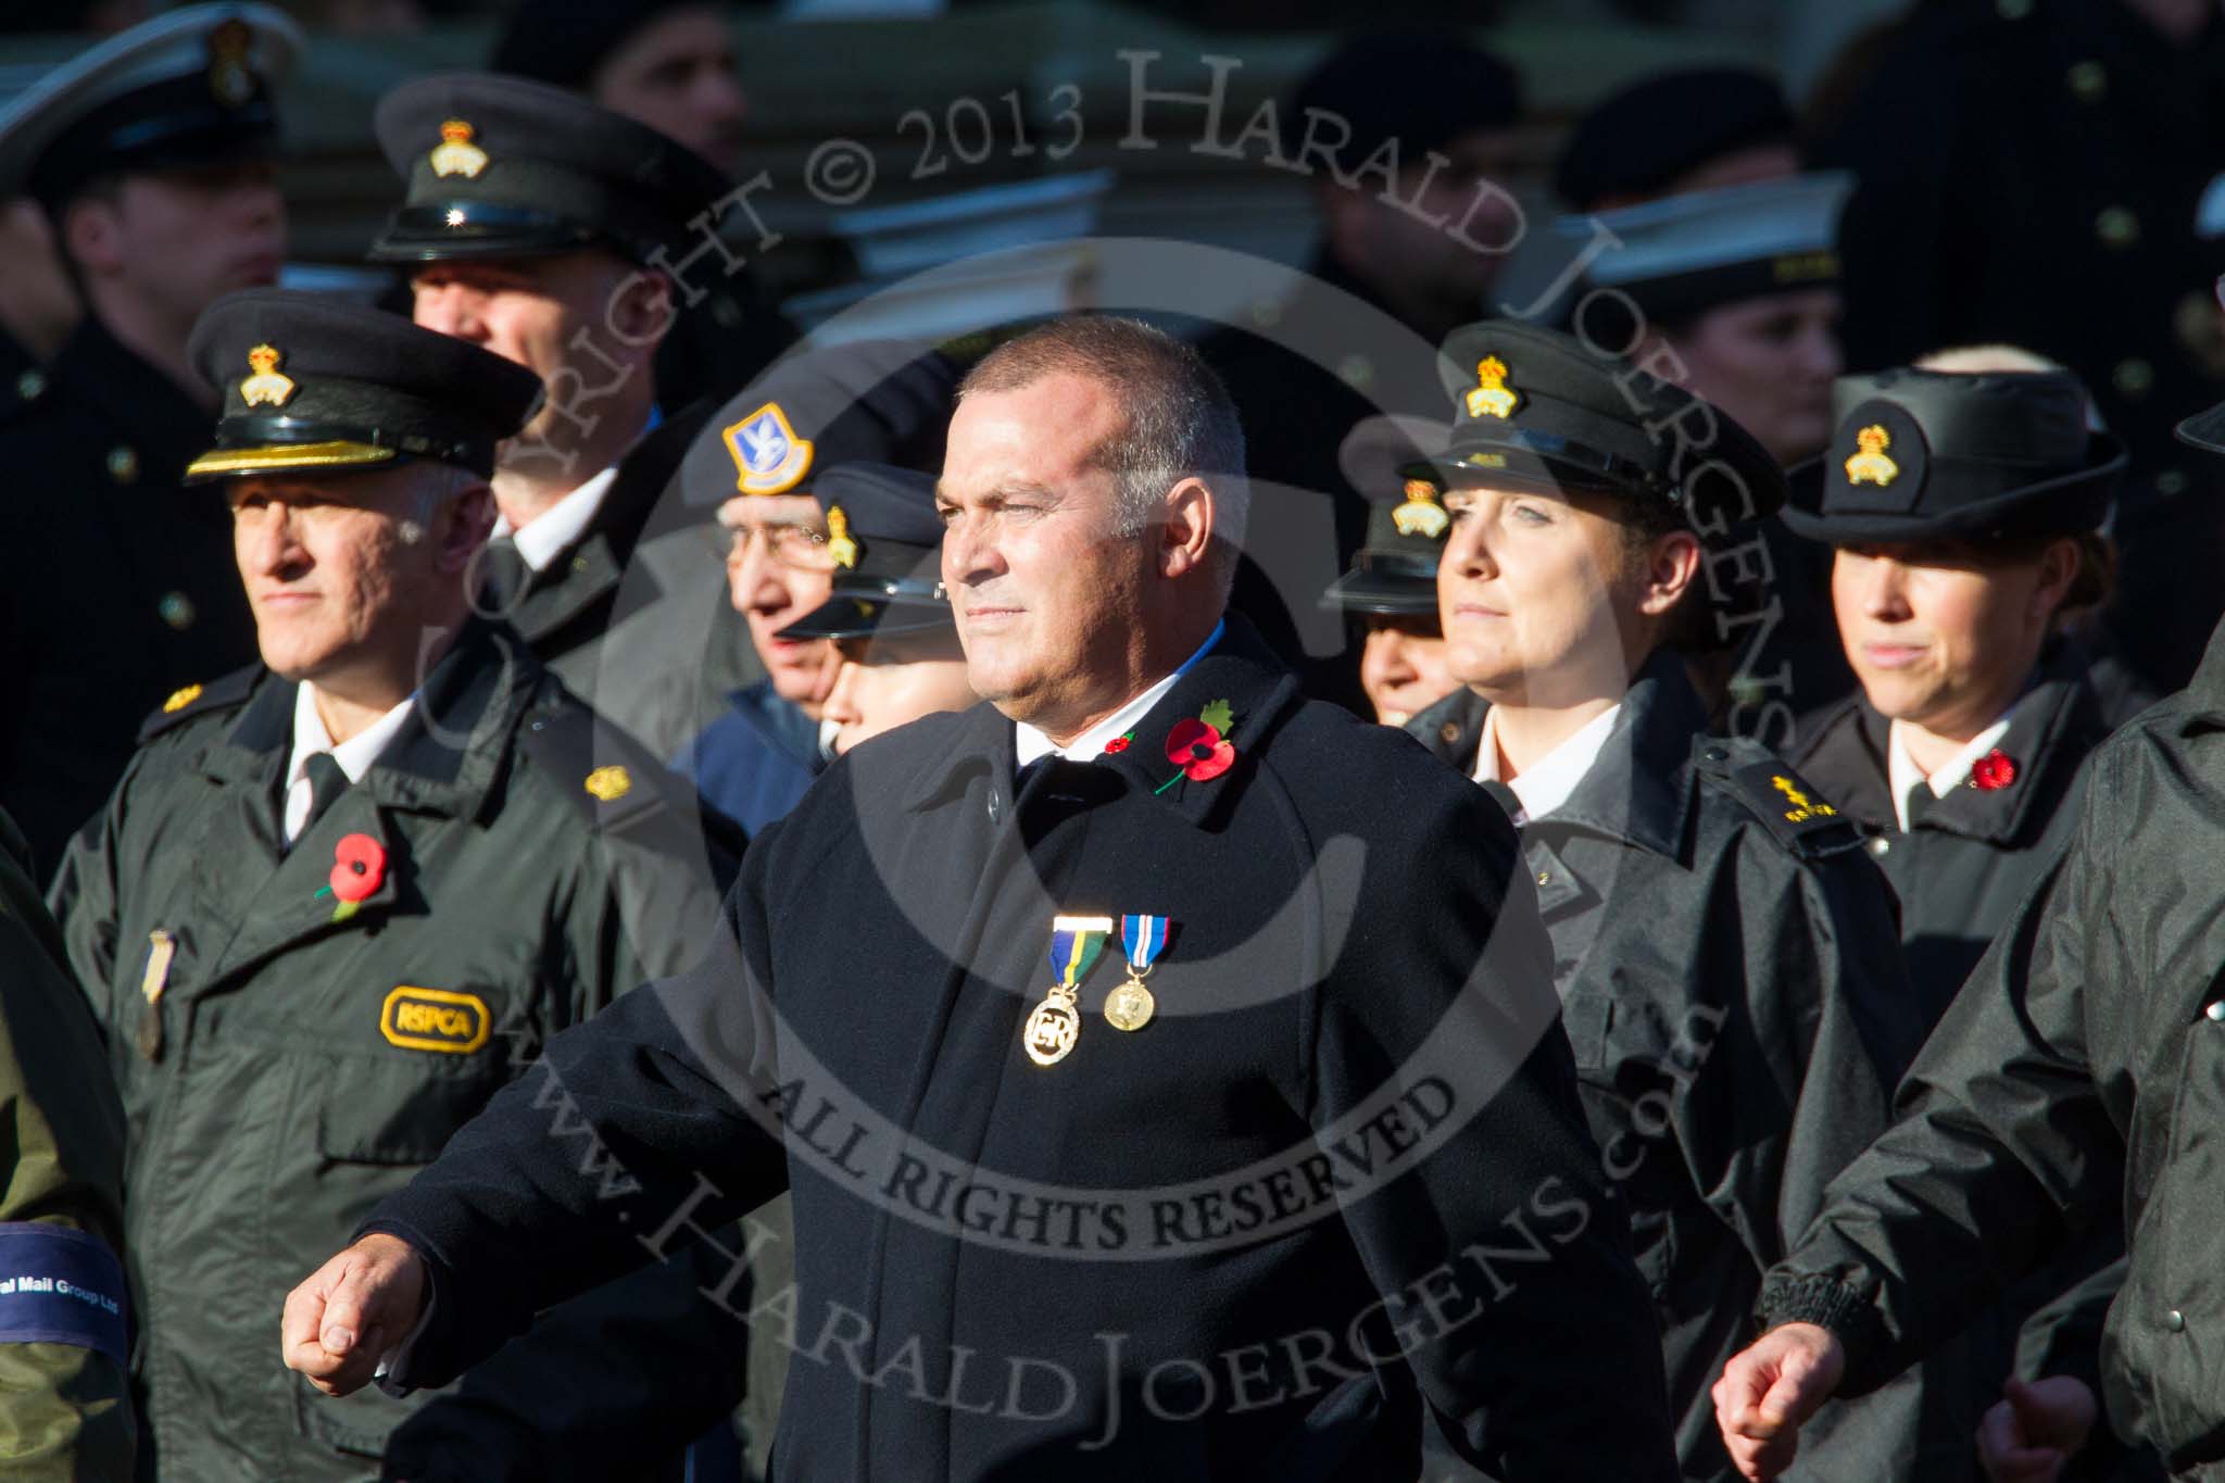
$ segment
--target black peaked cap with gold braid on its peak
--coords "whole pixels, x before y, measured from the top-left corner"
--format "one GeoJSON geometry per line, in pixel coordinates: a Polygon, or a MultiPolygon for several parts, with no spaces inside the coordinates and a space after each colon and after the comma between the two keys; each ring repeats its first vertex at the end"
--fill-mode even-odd
{"type": "Polygon", "coordinates": [[[541,378],[398,313],[325,293],[243,289],[187,342],[222,387],[216,447],[189,482],[265,469],[365,469],[400,458],[494,471],[494,445],[541,405],[541,378]]]}

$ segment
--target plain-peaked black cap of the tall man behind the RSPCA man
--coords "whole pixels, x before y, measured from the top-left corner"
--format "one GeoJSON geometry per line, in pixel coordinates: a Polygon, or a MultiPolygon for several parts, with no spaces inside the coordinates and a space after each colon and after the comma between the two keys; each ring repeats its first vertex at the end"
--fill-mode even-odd
{"type": "Polygon", "coordinates": [[[403,82],[374,116],[403,207],[374,262],[610,247],[685,258],[732,185],[685,145],[545,82],[458,71],[403,82]]]}

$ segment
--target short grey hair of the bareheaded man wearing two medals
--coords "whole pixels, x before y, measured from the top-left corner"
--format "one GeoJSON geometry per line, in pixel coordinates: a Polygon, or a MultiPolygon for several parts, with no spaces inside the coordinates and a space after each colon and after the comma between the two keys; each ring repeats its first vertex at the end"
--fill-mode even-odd
{"type": "Polygon", "coordinates": [[[1119,398],[1121,429],[1097,449],[1119,489],[1119,534],[1141,536],[1166,491],[1186,478],[1213,491],[1215,578],[1237,576],[1250,485],[1244,427],[1228,387],[1190,345],[1141,320],[1086,313],[1006,340],[966,374],[970,391],[1019,391],[1044,376],[1086,376],[1119,398]]]}

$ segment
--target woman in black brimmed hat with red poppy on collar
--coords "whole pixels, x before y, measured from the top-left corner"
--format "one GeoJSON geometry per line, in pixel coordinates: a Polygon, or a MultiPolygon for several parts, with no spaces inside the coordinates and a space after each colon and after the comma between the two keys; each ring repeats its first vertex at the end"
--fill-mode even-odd
{"type": "Polygon", "coordinates": [[[1796,760],[1869,836],[1936,1016],[2054,863],[2109,731],[2063,625],[2107,598],[2125,454],[2067,371],[1896,369],[1836,400],[1784,522],[1831,549],[1862,689],[1796,760]]]}

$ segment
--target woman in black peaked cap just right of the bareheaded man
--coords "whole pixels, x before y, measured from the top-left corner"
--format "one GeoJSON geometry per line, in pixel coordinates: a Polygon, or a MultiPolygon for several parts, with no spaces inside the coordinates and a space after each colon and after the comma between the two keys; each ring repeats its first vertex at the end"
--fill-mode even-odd
{"type": "MultiPolygon", "coordinates": [[[[1709,1385],[1760,1272],[1889,1121],[1920,1038],[1860,836],[1707,734],[1713,638],[1776,458],[1720,409],[1549,329],[1457,331],[1437,603],[1466,689],[1408,731],[1515,814],[1591,1134],[1653,1285],[1684,1479],[1729,1479],[1709,1385]]],[[[1920,1387],[1838,1407],[1816,1479],[1922,1470],[1920,1387]]],[[[1958,1459],[1969,1432],[1947,1439],[1958,1459]]]]}

